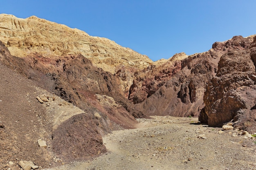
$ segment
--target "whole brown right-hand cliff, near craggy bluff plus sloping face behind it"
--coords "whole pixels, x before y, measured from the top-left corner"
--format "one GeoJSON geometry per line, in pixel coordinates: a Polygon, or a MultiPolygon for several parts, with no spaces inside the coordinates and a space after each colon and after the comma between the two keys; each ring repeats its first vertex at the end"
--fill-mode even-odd
{"type": "Polygon", "coordinates": [[[180,71],[137,106],[148,115],[199,116],[209,126],[233,120],[255,130],[254,48],[255,36],[216,42],[182,60],[180,71]]]}

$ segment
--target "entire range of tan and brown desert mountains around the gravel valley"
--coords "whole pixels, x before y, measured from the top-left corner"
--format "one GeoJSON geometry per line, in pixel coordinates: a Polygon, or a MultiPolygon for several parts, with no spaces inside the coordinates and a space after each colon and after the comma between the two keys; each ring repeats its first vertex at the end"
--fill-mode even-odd
{"type": "Polygon", "coordinates": [[[35,152],[44,167],[90,159],[106,152],[103,135],[149,115],[255,132],[255,44],[255,35],[235,36],[204,53],[153,62],[78,29],[0,14],[1,164],[29,148],[24,159],[35,152]],[[38,139],[47,150],[36,151],[38,139]]]}

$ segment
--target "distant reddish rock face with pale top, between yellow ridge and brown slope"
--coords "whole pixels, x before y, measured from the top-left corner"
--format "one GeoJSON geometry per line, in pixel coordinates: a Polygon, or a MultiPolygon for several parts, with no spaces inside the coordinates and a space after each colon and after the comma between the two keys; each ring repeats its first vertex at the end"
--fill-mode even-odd
{"type": "Polygon", "coordinates": [[[133,82],[130,86],[128,99],[133,103],[141,103],[153,95],[173,75],[181,70],[185,53],[175,54],[169,60],[159,60],[154,65],[134,73],[133,82]]]}

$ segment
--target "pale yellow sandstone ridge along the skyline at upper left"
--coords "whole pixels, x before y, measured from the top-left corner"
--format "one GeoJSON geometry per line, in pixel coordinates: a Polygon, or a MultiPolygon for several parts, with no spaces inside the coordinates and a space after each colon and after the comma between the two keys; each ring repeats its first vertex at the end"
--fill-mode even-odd
{"type": "Polygon", "coordinates": [[[153,64],[146,55],[112,40],[36,16],[22,19],[0,14],[0,41],[14,56],[25,57],[36,52],[46,57],[82,54],[95,66],[111,73],[121,65],[143,69],[153,64]]]}

